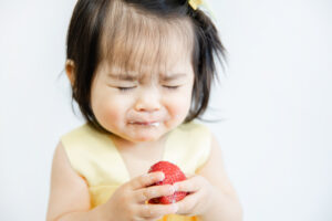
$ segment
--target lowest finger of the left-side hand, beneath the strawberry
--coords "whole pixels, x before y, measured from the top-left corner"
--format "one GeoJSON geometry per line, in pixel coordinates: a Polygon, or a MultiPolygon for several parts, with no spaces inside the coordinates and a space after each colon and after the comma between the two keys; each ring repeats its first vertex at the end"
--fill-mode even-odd
{"type": "Polygon", "coordinates": [[[139,215],[144,218],[164,217],[176,213],[178,210],[177,204],[142,204],[139,207],[139,215]]]}

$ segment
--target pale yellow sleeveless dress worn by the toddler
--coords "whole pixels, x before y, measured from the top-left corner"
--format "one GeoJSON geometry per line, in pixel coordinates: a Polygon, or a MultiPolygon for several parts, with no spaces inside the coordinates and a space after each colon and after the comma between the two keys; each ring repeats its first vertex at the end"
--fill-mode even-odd
{"type": "MultiPolygon", "coordinates": [[[[73,169],[89,186],[92,209],[105,203],[121,185],[129,181],[126,166],[111,137],[87,124],[61,137],[73,169]]],[[[163,160],[177,165],[185,173],[197,172],[210,152],[210,131],[196,122],[170,131],[163,160]]],[[[196,217],[165,215],[160,221],[189,221],[196,217]]]]}

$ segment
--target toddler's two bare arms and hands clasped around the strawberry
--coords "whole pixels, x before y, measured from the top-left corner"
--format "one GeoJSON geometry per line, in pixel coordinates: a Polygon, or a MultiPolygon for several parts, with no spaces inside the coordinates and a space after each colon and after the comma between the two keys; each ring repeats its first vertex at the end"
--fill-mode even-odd
{"type": "Polygon", "coordinates": [[[186,181],[177,182],[174,187],[147,187],[162,180],[163,173],[138,176],[121,186],[106,203],[91,210],[89,187],[71,168],[60,143],[53,158],[46,220],[158,220],[165,214],[177,213],[198,215],[206,221],[240,221],[241,206],[224,169],[221,151],[215,138],[211,151],[205,167],[186,181]],[[175,190],[190,194],[174,204],[144,204],[145,200],[168,196],[175,190]]]}

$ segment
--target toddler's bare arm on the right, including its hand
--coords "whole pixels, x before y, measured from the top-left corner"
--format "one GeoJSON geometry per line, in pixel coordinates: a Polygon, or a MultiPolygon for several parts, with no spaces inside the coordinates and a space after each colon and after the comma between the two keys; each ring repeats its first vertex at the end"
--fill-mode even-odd
{"type": "Polygon", "coordinates": [[[203,221],[241,221],[242,208],[224,168],[221,150],[215,137],[205,166],[193,177],[174,185],[190,192],[177,202],[179,214],[197,215],[203,221]]]}

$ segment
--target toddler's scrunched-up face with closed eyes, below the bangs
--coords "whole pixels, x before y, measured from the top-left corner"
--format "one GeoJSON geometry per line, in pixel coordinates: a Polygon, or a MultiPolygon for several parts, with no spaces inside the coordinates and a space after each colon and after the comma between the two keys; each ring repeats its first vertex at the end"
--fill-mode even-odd
{"type": "Polygon", "coordinates": [[[128,75],[102,62],[91,88],[98,123],[127,141],[153,141],[186,118],[194,85],[190,56],[177,53],[165,73],[128,75]],[[127,76],[127,77],[125,77],[127,76]]]}

